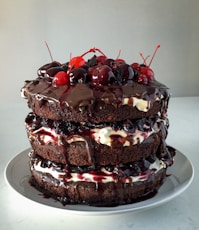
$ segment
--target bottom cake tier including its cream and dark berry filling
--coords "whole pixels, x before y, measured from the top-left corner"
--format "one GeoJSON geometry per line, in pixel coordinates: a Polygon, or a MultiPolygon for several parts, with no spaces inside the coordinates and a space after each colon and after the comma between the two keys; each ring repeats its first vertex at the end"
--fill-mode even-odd
{"type": "Polygon", "coordinates": [[[32,183],[64,205],[116,206],[148,199],[163,184],[170,166],[154,158],[114,167],[63,167],[33,152],[29,156],[32,183]]]}

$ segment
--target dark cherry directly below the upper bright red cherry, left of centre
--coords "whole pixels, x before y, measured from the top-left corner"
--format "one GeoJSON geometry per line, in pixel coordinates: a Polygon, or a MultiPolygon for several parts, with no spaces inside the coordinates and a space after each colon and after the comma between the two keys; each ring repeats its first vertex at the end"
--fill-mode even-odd
{"type": "Polygon", "coordinates": [[[69,74],[70,83],[85,83],[87,77],[87,71],[84,68],[74,68],[69,74]]]}

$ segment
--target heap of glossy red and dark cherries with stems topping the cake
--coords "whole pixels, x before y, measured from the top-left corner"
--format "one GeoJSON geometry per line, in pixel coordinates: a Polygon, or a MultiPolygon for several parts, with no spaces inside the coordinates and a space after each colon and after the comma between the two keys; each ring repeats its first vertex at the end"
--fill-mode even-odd
{"type": "Polygon", "coordinates": [[[91,48],[80,56],[70,57],[69,62],[60,64],[53,60],[47,43],[46,46],[52,62],[42,66],[38,70],[38,75],[52,79],[52,85],[55,87],[86,82],[101,86],[128,84],[133,81],[148,84],[154,81],[154,72],[150,66],[157,50],[160,48],[160,45],[156,47],[148,65],[147,59],[149,56],[144,57],[142,53],[140,53],[140,57],[143,59],[143,64],[135,62],[128,65],[124,59],[120,58],[121,50],[119,50],[115,59],[111,59],[107,58],[98,48],[91,48]],[[100,55],[94,55],[91,59],[85,61],[85,55],[95,52],[99,52],[100,55]]]}

